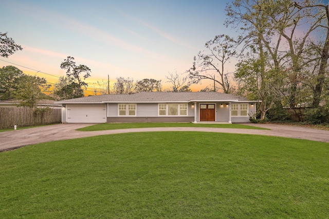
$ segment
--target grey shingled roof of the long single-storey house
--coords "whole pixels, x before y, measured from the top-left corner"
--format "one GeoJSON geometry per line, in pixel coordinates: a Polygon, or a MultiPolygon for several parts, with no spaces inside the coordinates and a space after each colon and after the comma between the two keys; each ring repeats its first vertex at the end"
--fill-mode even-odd
{"type": "Polygon", "coordinates": [[[134,94],[104,94],[59,101],[58,104],[96,103],[174,103],[247,101],[246,97],[218,92],[140,92],[134,94]]]}

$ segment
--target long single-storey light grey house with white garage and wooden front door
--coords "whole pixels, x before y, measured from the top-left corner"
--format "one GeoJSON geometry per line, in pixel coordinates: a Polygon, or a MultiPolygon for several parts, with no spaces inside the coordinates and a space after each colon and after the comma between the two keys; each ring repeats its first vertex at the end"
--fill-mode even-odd
{"type": "Polygon", "coordinates": [[[105,94],[59,101],[62,123],[249,123],[255,101],[217,92],[105,94]]]}

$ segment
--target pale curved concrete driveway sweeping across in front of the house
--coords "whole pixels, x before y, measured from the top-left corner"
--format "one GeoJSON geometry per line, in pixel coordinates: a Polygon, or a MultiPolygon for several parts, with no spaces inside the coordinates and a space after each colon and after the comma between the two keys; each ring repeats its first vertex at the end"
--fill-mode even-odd
{"type": "Polygon", "coordinates": [[[76,131],[78,128],[90,126],[93,124],[58,124],[51,126],[35,127],[15,131],[0,132],[0,151],[12,150],[26,145],[32,145],[43,142],[57,140],[67,140],[72,138],[117,134],[127,132],[149,132],[149,131],[203,131],[203,132],[222,132],[222,133],[241,133],[241,134],[260,134],[280,137],[301,138],[305,140],[327,142],[329,143],[329,131],[311,129],[298,126],[272,125],[272,124],[244,124],[258,126],[271,130],[256,129],[230,129],[230,128],[199,128],[199,127],[175,127],[175,128],[134,128],[134,129],[116,129],[105,131],[76,131]]]}

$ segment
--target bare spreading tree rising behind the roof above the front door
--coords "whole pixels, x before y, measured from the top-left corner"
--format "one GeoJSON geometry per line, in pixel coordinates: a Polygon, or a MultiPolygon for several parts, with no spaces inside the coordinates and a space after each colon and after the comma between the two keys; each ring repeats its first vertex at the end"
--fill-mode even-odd
{"type": "Polygon", "coordinates": [[[220,85],[224,93],[229,93],[230,82],[225,73],[225,64],[236,54],[234,40],[228,35],[217,35],[205,47],[207,51],[200,51],[197,57],[194,56],[193,67],[188,70],[191,83],[212,80],[214,84],[220,85]]]}

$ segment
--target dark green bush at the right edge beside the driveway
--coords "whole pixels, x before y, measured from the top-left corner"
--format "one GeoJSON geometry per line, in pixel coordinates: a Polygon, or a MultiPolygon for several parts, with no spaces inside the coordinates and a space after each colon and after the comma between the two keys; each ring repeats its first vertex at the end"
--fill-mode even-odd
{"type": "Polygon", "coordinates": [[[308,124],[329,123],[329,105],[307,109],[305,112],[305,121],[308,124]]]}

